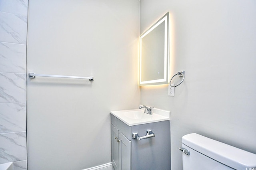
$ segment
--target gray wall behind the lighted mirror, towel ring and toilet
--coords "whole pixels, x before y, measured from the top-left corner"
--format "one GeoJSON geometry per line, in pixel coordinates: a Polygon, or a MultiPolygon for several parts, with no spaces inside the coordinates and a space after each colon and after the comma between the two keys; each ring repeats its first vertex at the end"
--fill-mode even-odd
{"type": "Polygon", "coordinates": [[[183,135],[196,132],[256,154],[256,2],[141,0],[140,33],[170,11],[170,77],[141,87],[141,104],[171,112],[172,170],[182,169],[183,135]]]}

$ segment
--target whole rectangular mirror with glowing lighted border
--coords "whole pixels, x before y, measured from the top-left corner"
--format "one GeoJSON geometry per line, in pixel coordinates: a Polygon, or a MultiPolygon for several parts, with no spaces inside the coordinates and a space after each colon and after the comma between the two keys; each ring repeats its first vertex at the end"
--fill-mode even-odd
{"type": "Polygon", "coordinates": [[[169,12],[140,36],[139,85],[168,84],[169,12]]]}

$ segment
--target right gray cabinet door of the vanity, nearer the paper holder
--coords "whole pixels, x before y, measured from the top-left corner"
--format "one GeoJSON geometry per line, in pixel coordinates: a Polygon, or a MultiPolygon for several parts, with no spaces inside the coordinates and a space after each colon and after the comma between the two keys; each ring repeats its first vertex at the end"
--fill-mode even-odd
{"type": "Polygon", "coordinates": [[[129,141],[121,132],[118,132],[119,140],[119,170],[131,170],[131,148],[132,142],[129,141]]]}

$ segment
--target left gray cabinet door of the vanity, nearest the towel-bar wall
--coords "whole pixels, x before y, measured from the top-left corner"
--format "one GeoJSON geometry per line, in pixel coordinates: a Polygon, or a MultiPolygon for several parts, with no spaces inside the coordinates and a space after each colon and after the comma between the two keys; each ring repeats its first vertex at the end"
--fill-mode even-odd
{"type": "Polygon", "coordinates": [[[111,124],[111,162],[115,170],[119,170],[118,143],[118,130],[111,124]]]}

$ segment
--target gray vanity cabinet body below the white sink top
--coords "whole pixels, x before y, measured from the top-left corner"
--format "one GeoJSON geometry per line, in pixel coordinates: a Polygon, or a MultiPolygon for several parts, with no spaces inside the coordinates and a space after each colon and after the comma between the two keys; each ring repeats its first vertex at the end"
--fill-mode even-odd
{"type": "Polygon", "coordinates": [[[128,126],[111,114],[111,160],[115,170],[170,170],[170,120],[128,126]],[[132,138],[147,130],[155,137],[132,138]]]}

